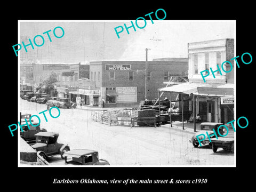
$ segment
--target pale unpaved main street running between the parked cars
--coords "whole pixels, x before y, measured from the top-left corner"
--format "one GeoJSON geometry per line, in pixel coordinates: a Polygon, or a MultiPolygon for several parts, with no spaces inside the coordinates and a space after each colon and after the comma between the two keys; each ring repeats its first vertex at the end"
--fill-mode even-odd
{"type": "MultiPolygon", "coordinates": [[[[38,115],[45,109],[46,105],[20,99],[22,114],[38,115]]],[[[58,142],[68,144],[70,149],[97,150],[99,158],[107,159],[110,165],[234,165],[234,153],[222,149],[213,153],[208,145],[193,147],[189,142],[193,135],[191,132],[170,128],[170,125],[132,129],[129,126],[110,126],[92,121],[92,110],[97,108],[60,108],[58,118],[45,113],[47,122],[43,114],[38,116],[41,128],[59,133],[58,142]]],[[[49,162],[51,165],[64,165],[59,156],[51,157],[49,162]]]]}

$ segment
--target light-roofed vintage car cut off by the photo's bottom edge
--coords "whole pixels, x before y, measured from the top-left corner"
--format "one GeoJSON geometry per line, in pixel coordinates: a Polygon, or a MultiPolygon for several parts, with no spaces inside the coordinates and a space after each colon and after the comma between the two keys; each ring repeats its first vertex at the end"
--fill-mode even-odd
{"type": "Polygon", "coordinates": [[[73,149],[63,154],[66,164],[71,165],[110,165],[106,159],[99,159],[99,153],[89,149],[73,149]]]}

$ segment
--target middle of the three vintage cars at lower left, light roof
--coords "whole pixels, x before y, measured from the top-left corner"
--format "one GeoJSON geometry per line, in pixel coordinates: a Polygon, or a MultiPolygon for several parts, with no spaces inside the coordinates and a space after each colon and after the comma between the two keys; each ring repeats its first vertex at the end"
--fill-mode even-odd
{"type": "Polygon", "coordinates": [[[44,159],[59,154],[61,155],[61,158],[64,159],[63,153],[70,150],[68,145],[64,145],[62,143],[57,142],[59,133],[39,132],[35,135],[36,143],[31,147],[36,149],[37,153],[44,159]]]}

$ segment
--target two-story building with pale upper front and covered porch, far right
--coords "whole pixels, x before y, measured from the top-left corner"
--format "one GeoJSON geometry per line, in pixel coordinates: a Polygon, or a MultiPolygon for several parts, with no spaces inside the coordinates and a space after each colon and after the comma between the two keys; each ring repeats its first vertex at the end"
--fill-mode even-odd
{"type": "MultiPolygon", "coordinates": [[[[227,123],[234,120],[234,39],[188,43],[188,79],[189,82],[159,89],[159,91],[188,94],[193,96],[190,110],[199,114],[203,122],[227,123]],[[217,71],[217,65],[230,61],[233,67],[229,73],[217,71]],[[212,68],[212,73],[205,78],[201,71],[212,68]],[[214,78],[215,77],[215,78],[214,78]],[[195,110],[194,110],[195,109],[195,110]]],[[[229,71],[230,65],[223,65],[229,71]]]]}

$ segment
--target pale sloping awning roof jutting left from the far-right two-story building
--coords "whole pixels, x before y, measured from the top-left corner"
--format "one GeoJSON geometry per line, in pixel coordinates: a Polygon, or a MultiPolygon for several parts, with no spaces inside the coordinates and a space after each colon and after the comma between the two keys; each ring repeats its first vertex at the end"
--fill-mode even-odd
{"type": "Polygon", "coordinates": [[[197,87],[201,87],[201,86],[206,86],[206,84],[187,82],[187,83],[181,83],[179,85],[174,85],[170,87],[164,87],[164,88],[158,89],[158,91],[191,94],[197,91],[197,87]]]}

